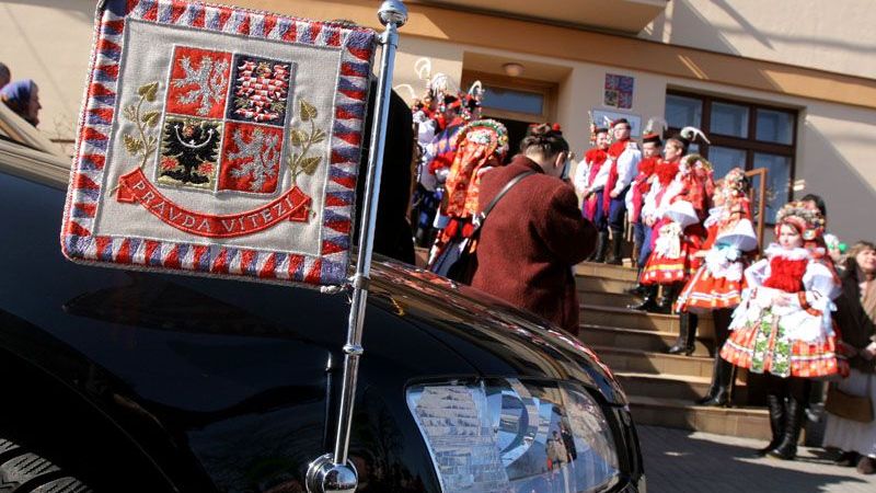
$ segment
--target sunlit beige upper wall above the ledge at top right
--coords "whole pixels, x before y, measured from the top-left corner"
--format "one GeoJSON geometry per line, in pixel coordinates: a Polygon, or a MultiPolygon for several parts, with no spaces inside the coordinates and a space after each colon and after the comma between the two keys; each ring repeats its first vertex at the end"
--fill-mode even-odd
{"type": "Polygon", "coordinates": [[[873,0],[672,0],[639,37],[876,77],[873,0]]]}

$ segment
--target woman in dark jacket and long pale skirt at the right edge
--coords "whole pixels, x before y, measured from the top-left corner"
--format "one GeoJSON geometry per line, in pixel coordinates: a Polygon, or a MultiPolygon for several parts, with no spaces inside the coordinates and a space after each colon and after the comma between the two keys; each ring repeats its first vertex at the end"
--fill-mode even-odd
{"type": "MultiPolygon", "coordinates": [[[[841,276],[842,295],[837,299],[837,326],[842,331],[841,352],[849,358],[849,378],[839,390],[868,397],[876,403],[876,245],[855,243],[841,276]]],[[[860,423],[828,414],[825,445],[844,454],[838,462],[857,466],[862,474],[876,472],[876,422],[860,423]]]]}

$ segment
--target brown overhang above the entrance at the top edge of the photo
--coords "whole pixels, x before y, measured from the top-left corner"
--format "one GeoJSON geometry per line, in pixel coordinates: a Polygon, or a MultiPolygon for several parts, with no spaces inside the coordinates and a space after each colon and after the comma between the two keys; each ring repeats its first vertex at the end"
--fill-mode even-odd
{"type": "Polygon", "coordinates": [[[669,0],[408,0],[442,9],[488,13],[549,24],[638,34],[669,0]]]}

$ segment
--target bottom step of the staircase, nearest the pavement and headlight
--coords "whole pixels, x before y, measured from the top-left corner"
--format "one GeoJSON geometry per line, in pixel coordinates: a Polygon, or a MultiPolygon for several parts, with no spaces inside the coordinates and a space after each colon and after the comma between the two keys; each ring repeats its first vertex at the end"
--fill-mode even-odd
{"type": "Polygon", "coordinates": [[[633,421],[717,435],[769,440],[770,419],[762,408],[705,408],[680,399],[630,395],[633,421]]]}

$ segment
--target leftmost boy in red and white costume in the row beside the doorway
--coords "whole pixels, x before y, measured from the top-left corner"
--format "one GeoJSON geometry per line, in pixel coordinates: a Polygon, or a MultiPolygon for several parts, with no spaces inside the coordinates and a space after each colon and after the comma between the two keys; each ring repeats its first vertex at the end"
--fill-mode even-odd
{"type": "MultiPolygon", "coordinates": [[[[584,153],[584,159],[575,170],[572,180],[575,190],[581,195],[581,214],[597,226],[600,231],[604,228],[604,215],[602,214],[601,193],[609,179],[608,162],[609,130],[606,127],[597,127],[590,123],[590,142],[595,145],[584,153]],[[600,227],[601,225],[601,227],[600,227]]],[[[604,260],[604,250],[602,252],[604,260]]],[[[598,262],[602,262],[599,260],[598,262]]]]}

